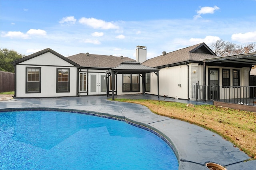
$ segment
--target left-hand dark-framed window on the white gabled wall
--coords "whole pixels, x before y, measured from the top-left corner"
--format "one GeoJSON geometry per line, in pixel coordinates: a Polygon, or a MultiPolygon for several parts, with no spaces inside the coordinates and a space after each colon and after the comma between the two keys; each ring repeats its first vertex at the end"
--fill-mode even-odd
{"type": "Polygon", "coordinates": [[[26,93],[41,93],[40,67],[26,67],[26,93]]]}

